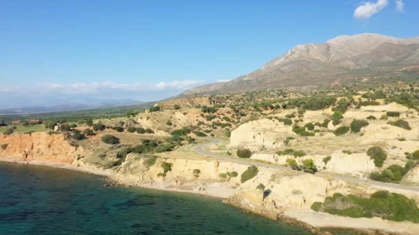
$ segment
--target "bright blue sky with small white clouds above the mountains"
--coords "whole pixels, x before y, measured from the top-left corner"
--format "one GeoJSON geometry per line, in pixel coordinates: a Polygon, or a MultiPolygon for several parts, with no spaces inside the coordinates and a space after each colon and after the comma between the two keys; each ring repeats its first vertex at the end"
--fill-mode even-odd
{"type": "Polygon", "coordinates": [[[418,25],[417,0],[0,0],[0,109],[161,100],[298,44],[418,25]]]}

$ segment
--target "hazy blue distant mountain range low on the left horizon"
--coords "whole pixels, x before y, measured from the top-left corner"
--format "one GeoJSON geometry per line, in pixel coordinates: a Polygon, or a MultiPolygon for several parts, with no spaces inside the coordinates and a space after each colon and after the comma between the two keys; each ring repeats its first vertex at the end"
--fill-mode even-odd
{"type": "Polygon", "coordinates": [[[99,104],[59,104],[54,106],[21,107],[17,109],[0,109],[0,114],[19,113],[52,113],[62,111],[78,111],[87,109],[101,109],[111,107],[123,107],[132,104],[143,104],[137,100],[102,100],[99,104]]]}

